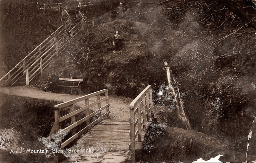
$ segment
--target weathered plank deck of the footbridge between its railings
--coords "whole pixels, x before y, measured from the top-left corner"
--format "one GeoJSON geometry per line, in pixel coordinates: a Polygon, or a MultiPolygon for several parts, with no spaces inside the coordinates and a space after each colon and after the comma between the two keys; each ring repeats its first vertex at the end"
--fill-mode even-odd
{"type": "MultiPolygon", "coordinates": [[[[94,126],[78,140],[85,149],[94,151],[121,151],[128,150],[130,143],[130,123],[124,119],[106,119],[100,125],[94,126]]],[[[146,131],[142,130],[142,140],[146,131]]],[[[136,138],[135,141],[138,141],[136,138]]],[[[141,148],[141,142],[137,142],[136,149],[141,148]]]]}

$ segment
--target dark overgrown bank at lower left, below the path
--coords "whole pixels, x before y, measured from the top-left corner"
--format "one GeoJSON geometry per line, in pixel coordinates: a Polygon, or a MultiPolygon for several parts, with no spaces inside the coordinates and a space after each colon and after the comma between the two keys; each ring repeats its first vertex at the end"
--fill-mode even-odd
{"type": "Polygon", "coordinates": [[[0,94],[0,102],[1,162],[50,161],[44,153],[29,153],[27,150],[44,149],[38,137],[49,135],[54,122],[52,106],[58,102],[5,94],[0,94]]]}

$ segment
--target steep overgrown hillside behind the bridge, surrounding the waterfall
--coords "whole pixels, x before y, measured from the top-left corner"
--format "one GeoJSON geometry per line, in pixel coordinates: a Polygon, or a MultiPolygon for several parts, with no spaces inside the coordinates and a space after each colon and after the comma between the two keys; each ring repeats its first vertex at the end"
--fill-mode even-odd
{"type": "Polygon", "coordinates": [[[55,61],[64,66],[52,64],[46,72],[54,69],[59,76],[84,79],[85,92],[108,88],[133,98],[151,84],[156,116],[177,127],[166,89],[167,61],[192,129],[228,140],[231,149],[245,152],[256,114],[255,5],[250,2],[127,1],[122,16],[116,16],[116,4],[98,16],[83,11],[94,26],[83,24],[84,30],[59,57],[61,62],[55,61]],[[123,38],[119,52],[113,48],[116,30],[123,38]]]}

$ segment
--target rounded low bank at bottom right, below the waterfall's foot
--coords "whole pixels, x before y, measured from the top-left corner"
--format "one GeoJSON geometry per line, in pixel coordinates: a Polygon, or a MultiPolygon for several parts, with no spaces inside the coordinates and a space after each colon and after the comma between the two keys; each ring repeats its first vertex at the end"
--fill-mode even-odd
{"type": "MultiPolygon", "coordinates": [[[[207,134],[167,127],[162,124],[151,125],[142,144],[142,150],[136,155],[137,162],[187,162],[199,158],[209,160],[220,156],[222,162],[242,162],[246,155],[238,150],[230,149],[220,140],[207,134]],[[151,135],[151,137],[148,137],[151,135]],[[153,137],[153,139],[152,139],[153,137]]],[[[248,160],[255,159],[247,155],[248,160]]],[[[202,160],[201,160],[202,161],[202,160]]]]}

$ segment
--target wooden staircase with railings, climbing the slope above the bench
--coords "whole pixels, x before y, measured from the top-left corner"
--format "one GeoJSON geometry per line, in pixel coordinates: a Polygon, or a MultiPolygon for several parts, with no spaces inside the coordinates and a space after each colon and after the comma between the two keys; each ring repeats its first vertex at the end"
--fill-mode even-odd
{"type": "Polygon", "coordinates": [[[66,48],[64,42],[67,38],[76,37],[78,26],[85,20],[81,13],[80,16],[82,16],[82,20],[73,28],[69,18],[54,33],[32,50],[28,56],[0,79],[0,86],[29,85],[29,82],[36,78],[38,74],[42,75],[44,68],[66,48]]]}

